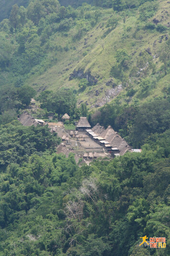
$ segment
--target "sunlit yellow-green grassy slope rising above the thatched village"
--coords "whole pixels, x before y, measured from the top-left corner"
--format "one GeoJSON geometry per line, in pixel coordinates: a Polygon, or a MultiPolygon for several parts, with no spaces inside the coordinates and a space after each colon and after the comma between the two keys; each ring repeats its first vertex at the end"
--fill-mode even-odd
{"type": "MultiPolygon", "coordinates": [[[[170,4],[168,1],[159,0],[159,10],[156,13],[155,17],[159,20],[166,11],[169,11],[170,4]]],[[[103,33],[107,30],[106,23],[107,20],[113,14],[113,9],[102,9],[102,16],[99,19],[99,22],[89,30],[81,40],[72,42],[72,34],[74,34],[74,27],[68,32],[68,36],[64,36],[62,33],[56,33],[50,38],[52,42],[52,48],[55,46],[66,46],[68,45],[69,50],[65,51],[56,51],[51,50],[48,56],[45,58],[44,63],[41,65],[46,65],[49,63],[49,68],[42,74],[35,72],[34,75],[31,74],[25,81],[25,84],[32,85],[38,92],[41,92],[45,89],[57,90],[60,87],[63,88],[73,88],[78,90],[79,79],[73,79],[69,81],[69,74],[73,72],[74,69],[78,70],[79,68],[83,69],[85,72],[90,70],[91,74],[99,75],[99,81],[97,85],[90,86],[86,88],[84,92],[78,91],[78,102],[88,102],[89,109],[91,105],[95,102],[100,102],[102,98],[105,97],[105,92],[110,90],[110,86],[106,86],[106,82],[112,78],[111,68],[115,64],[114,54],[115,51],[119,48],[127,49],[129,54],[132,54],[134,51],[136,53],[132,55],[132,60],[135,61],[141,50],[145,50],[148,47],[151,49],[152,55],[156,55],[160,43],[158,42],[162,35],[157,31],[144,30],[142,27],[144,23],[140,23],[138,18],[137,11],[134,11],[130,17],[126,19],[125,24],[123,20],[119,21],[119,25],[114,29],[107,37],[103,38],[103,33]],[[136,26],[141,28],[136,31],[136,26]],[[127,31],[128,29],[128,31],[127,31]],[[135,34],[135,36],[134,36],[135,34]],[[142,39],[140,39],[142,36],[142,39]],[[84,44],[85,38],[87,44],[84,44]],[[156,47],[153,47],[153,44],[156,40],[156,47]],[[103,49],[104,48],[104,49],[103,49]],[[83,57],[83,53],[87,51],[88,54],[83,57]],[[57,62],[53,61],[57,57],[57,62]],[[54,64],[55,63],[55,64],[54,64]],[[100,91],[99,96],[95,96],[96,90],[100,91]]],[[[165,15],[164,15],[165,16],[165,15]]],[[[153,20],[154,17],[150,19],[153,20]]],[[[168,19],[164,18],[161,24],[167,24],[168,19]]],[[[157,68],[160,67],[159,58],[155,59],[157,63],[157,68]]],[[[121,81],[118,81],[113,78],[116,84],[120,84],[121,81]]],[[[156,88],[151,91],[151,94],[147,98],[153,97],[162,97],[163,92],[162,88],[165,84],[168,84],[169,76],[163,77],[159,80],[156,88]]],[[[139,86],[135,85],[135,89],[138,90],[139,86]]],[[[126,90],[124,89],[121,92],[122,99],[127,98],[125,96],[126,90]]],[[[136,97],[136,95],[134,96],[136,97]]],[[[132,99],[133,100],[133,99],[132,99]]],[[[141,98],[140,100],[145,100],[141,98]]]]}

